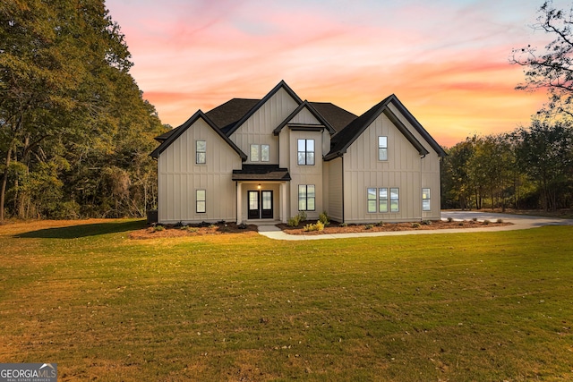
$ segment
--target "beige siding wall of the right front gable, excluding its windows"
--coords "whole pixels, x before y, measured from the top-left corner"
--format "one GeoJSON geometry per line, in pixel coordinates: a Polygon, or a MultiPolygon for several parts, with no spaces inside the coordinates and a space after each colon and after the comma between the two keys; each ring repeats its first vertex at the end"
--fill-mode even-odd
{"type": "MultiPolygon", "coordinates": [[[[396,115],[400,115],[395,111],[396,115]]],[[[344,157],[344,217],[348,223],[400,222],[440,217],[440,161],[414,128],[402,121],[431,153],[421,159],[418,151],[380,115],[347,149],[344,157]],[[378,159],[378,137],[388,137],[388,160],[378,159]],[[369,213],[368,188],[399,189],[398,212],[369,213]],[[432,211],[422,213],[422,188],[431,188],[432,211]]]]}

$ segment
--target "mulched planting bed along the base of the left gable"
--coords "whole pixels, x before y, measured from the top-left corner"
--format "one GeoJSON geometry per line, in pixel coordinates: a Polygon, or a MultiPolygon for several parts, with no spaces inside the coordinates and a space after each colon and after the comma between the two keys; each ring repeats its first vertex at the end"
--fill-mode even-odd
{"type": "Polygon", "coordinates": [[[225,233],[257,233],[256,225],[222,223],[214,225],[156,225],[133,231],[130,239],[158,239],[162,237],[203,236],[225,233]]]}

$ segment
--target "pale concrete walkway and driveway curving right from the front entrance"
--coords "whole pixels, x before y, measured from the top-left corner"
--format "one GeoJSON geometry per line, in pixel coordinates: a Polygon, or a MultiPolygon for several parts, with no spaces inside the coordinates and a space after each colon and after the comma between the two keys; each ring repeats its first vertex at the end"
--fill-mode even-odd
{"type": "Polygon", "coordinates": [[[573,219],[560,219],[558,217],[543,216],[526,216],[526,215],[509,215],[496,214],[492,212],[475,212],[475,211],[442,211],[441,219],[446,220],[449,217],[456,221],[472,220],[477,218],[478,221],[490,220],[496,221],[502,219],[504,222],[513,223],[513,225],[503,225],[498,227],[483,228],[451,228],[436,230],[420,231],[397,231],[397,232],[372,232],[372,233],[331,233],[318,235],[295,235],[281,231],[276,225],[259,225],[259,233],[275,240],[325,240],[325,239],[346,239],[355,237],[373,237],[373,236],[401,236],[405,234],[436,234],[436,233],[473,233],[473,232],[493,232],[493,231],[514,231],[541,227],[543,225],[573,225],[573,219]]]}

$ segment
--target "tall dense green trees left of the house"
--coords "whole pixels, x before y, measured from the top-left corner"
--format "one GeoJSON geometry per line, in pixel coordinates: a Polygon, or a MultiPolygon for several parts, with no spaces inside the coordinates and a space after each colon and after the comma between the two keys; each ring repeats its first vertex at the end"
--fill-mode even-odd
{"type": "Polygon", "coordinates": [[[0,1],[0,222],[143,216],[167,127],[104,0],[0,1]]]}

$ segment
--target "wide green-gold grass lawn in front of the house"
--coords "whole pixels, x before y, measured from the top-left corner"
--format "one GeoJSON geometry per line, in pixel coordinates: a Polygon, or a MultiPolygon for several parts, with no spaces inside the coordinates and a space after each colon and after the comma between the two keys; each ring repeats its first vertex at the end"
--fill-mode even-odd
{"type": "Polygon", "coordinates": [[[0,361],[58,380],[573,380],[573,227],[275,242],[0,226],[0,361]]]}

